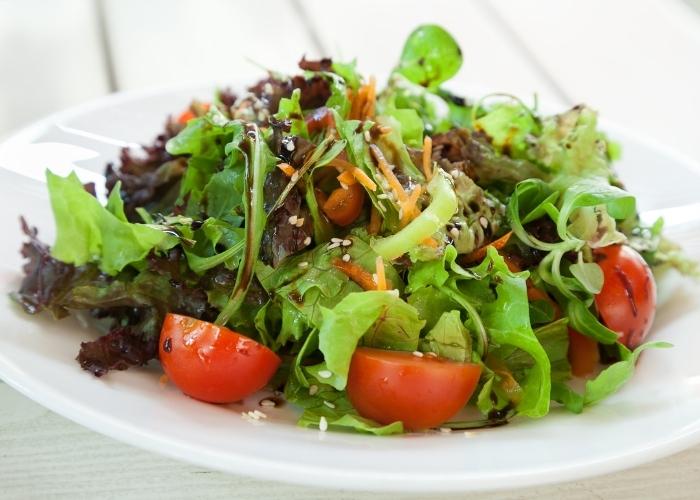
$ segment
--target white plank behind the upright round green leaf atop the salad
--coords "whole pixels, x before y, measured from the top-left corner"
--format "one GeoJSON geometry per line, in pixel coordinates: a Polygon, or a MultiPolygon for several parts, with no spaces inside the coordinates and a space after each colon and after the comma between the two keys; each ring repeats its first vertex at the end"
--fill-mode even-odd
{"type": "Polygon", "coordinates": [[[420,24],[436,23],[452,33],[464,52],[459,85],[525,98],[553,93],[477,1],[310,0],[303,5],[331,55],[357,58],[359,68],[380,81],[396,65],[408,34],[420,24]]]}

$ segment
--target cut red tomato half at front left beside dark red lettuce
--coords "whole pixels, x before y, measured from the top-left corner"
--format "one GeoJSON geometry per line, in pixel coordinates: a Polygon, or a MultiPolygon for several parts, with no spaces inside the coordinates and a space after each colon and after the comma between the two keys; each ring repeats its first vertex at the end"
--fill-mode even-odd
{"type": "Polygon", "coordinates": [[[233,403],[259,391],[281,362],[248,337],[178,314],[165,317],[159,357],[169,380],[188,396],[208,403],[233,403]]]}

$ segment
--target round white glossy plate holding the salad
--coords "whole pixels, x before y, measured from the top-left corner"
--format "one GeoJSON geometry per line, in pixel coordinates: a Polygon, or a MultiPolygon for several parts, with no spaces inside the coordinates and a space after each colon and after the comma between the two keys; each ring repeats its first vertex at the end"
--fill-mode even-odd
{"type": "MultiPolygon", "coordinates": [[[[110,96],[54,115],[0,147],[2,290],[16,288],[22,261],[18,217],[24,214],[52,241],[44,167],[100,173],[117,148],[77,137],[57,125],[124,142],[147,141],[166,114],[202,89],[110,96]],[[30,143],[54,145],[28,146],[30,143]],[[79,147],[66,147],[69,143],[79,147]],[[95,151],[95,152],[91,152],[95,151]],[[99,154],[97,154],[99,153],[99,154]],[[38,176],[39,178],[41,175],[38,176]]],[[[700,177],[690,162],[612,126],[624,146],[619,170],[642,210],[698,200],[700,177]]],[[[94,175],[94,174],[93,174],[94,175]]],[[[686,232],[697,237],[697,230],[686,232]]],[[[695,256],[700,252],[693,250],[695,256]]],[[[449,491],[515,488],[604,474],[668,455],[700,441],[700,288],[661,283],[654,339],[675,348],[642,356],[631,382],[582,415],[552,411],[537,421],[470,433],[377,438],[301,429],[288,405],[251,423],[240,412],[259,398],[229,407],[198,403],[159,370],[131,369],[97,379],[74,361],[92,333],[73,320],[32,317],[5,299],[0,306],[0,377],[30,398],[95,431],[204,467],[330,488],[449,491]]]]}

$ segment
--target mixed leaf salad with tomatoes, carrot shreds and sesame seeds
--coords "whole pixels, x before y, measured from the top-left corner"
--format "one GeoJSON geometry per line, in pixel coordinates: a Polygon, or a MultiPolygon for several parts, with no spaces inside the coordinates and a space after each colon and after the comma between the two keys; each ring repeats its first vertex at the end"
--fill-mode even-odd
{"type": "Polygon", "coordinates": [[[645,342],[652,270],[695,267],[640,222],[592,109],[455,95],[461,64],[425,25],[383,88],[354,61],[302,58],[220,90],[123,150],[104,205],[47,171],[56,240],[22,220],[13,297],[88,318],[101,336],[77,361],[98,377],[158,359],[195,399],[268,388],[260,405],[283,397],[305,427],[584,411],[668,347],[645,342]]]}

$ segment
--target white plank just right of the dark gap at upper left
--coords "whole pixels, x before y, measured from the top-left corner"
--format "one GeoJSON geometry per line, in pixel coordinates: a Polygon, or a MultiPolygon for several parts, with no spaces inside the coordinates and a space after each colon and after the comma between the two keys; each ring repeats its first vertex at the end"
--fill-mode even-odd
{"type": "MultiPolygon", "coordinates": [[[[181,82],[251,81],[265,68],[294,71],[315,55],[286,1],[105,0],[120,89],[181,82]]],[[[252,81],[251,81],[252,83],[252,81]]]]}

